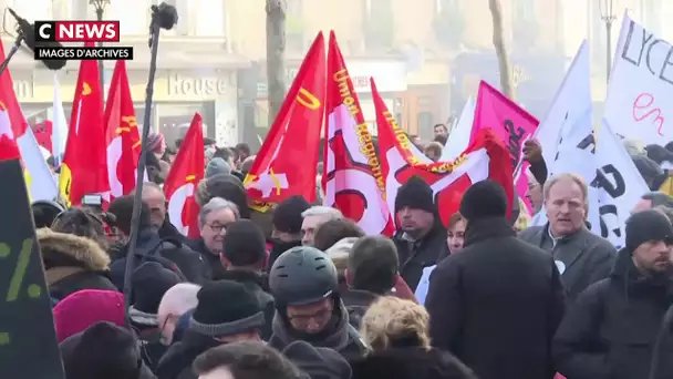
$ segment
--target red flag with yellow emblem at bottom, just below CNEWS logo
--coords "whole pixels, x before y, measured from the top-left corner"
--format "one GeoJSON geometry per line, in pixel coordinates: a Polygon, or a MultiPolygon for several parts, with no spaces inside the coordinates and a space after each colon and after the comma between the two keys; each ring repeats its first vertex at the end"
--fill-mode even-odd
{"type": "MultiPolygon", "coordinates": [[[[84,43],[93,47],[93,42],[84,43]]],[[[59,187],[69,205],[110,191],[103,126],[103,89],[97,61],[82,61],[72,104],[59,187]]]]}

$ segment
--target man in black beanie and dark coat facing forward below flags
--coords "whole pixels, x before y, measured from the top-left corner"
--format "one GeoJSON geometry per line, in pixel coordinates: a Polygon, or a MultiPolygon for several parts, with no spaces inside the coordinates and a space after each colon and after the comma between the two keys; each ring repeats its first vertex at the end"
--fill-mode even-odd
{"type": "Polygon", "coordinates": [[[400,256],[400,275],[415,291],[423,268],[446,257],[446,228],[442,224],[433,190],[413,176],[397,190],[395,219],[398,231],[393,236],[400,256]]]}

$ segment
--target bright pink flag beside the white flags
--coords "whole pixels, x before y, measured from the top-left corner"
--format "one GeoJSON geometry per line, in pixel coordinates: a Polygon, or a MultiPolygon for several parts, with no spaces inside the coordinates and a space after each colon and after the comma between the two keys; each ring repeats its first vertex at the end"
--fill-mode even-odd
{"type": "Polygon", "coordinates": [[[507,99],[485,81],[479,83],[475,121],[472,127],[470,143],[483,129],[491,129],[505,142],[515,175],[517,194],[526,203],[528,212],[532,207],[526,197],[528,192],[528,177],[526,170],[528,162],[524,158],[524,142],[530,140],[538,129],[539,121],[522,107],[507,99]]]}

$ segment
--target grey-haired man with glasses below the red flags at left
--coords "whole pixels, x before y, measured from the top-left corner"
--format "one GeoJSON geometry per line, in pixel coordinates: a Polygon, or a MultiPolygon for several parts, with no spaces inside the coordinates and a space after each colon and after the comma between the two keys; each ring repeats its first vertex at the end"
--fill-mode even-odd
{"type": "Polygon", "coordinates": [[[190,247],[200,253],[210,268],[209,277],[221,277],[225,273],[220,260],[227,225],[240,218],[236,204],[221,197],[211,198],[198,214],[201,237],[193,240],[190,247]]]}

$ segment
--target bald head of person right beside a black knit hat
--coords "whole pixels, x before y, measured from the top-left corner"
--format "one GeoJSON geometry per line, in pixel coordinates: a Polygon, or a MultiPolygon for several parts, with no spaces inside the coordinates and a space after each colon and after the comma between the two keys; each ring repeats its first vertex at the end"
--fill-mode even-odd
{"type": "Polygon", "coordinates": [[[157,311],[157,320],[164,337],[164,344],[170,345],[179,318],[196,308],[196,294],[200,289],[191,283],[177,284],[164,294],[157,311]]]}

